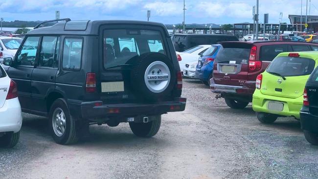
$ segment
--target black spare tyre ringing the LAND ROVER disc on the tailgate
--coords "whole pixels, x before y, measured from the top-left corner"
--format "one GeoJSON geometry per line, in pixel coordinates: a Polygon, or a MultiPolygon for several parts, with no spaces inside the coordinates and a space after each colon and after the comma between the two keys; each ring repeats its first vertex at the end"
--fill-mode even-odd
{"type": "Polygon", "coordinates": [[[151,101],[158,101],[162,98],[166,98],[167,96],[171,96],[172,90],[176,85],[176,75],[172,61],[166,55],[157,52],[144,53],[136,59],[136,62],[132,67],[131,86],[138,97],[151,101]],[[158,93],[149,90],[144,79],[147,67],[156,61],[163,62],[170,71],[170,82],[167,88],[158,93]]]}

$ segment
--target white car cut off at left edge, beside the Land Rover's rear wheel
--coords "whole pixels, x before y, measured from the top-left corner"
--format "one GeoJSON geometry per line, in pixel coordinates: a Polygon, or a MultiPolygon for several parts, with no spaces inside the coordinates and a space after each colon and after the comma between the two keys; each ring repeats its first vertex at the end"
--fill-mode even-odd
{"type": "Polygon", "coordinates": [[[17,84],[0,65],[0,147],[14,147],[19,141],[21,126],[17,84]]]}

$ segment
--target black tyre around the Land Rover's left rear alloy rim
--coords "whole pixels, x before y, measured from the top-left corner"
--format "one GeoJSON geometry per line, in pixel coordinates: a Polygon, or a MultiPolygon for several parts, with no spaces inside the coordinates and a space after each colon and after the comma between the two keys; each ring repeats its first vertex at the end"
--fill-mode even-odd
{"type": "Polygon", "coordinates": [[[51,135],[54,139],[54,141],[58,144],[68,145],[68,144],[74,144],[78,141],[78,128],[79,125],[77,125],[77,122],[75,121],[74,117],[72,117],[68,110],[68,105],[66,101],[62,98],[56,99],[49,112],[49,126],[51,130],[51,135]],[[54,132],[53,127],[53,121],[55,120],[55,116],[53,118],[53,112],[57,109],[63,110],[65,114],[65,132],[59,136],[56,132],[54,132]]]}

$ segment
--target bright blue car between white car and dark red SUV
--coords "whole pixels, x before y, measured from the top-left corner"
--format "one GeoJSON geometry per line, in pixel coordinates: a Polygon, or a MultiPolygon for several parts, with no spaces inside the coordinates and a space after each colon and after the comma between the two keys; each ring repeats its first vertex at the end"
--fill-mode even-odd
{"type": "Polygon", "coordinates": [[[212,45],[199,57],[195,78],[201,80],[207,86],[210,86],[210,79],[213,77],[214,59],[220,48],[222,48],[220,44],[212,45]]]}

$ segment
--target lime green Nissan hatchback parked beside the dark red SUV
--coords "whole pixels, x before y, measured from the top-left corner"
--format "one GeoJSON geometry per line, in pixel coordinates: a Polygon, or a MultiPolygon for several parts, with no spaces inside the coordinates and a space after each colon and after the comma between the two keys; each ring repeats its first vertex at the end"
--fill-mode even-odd
{"type": "Polygon", "coordinates": [[[295,117],[303,104],[306,81],[318,65],[318,52],[284,52],[256,79],[252,107],[262,123],[277,117],[295,117]]]}

